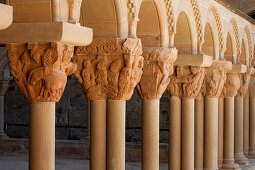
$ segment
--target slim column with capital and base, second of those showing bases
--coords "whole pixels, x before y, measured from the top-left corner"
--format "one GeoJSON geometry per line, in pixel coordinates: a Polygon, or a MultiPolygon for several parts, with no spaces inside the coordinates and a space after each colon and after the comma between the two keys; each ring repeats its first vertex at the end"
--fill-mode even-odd
{"type": "Polygon", "coordinates": [[[234,124],[235,124],[235,162],[241,165],[248,165],[248,159],[243,154],[243,129],[244,129],[244,122],[243,122],[243,113],[244,113],[244,96],[248,90],[249,83],[250,83],[250,75],[246,74],[239,74],[241,87],[235,97],[235,115],[234,115],[234,124]]]}

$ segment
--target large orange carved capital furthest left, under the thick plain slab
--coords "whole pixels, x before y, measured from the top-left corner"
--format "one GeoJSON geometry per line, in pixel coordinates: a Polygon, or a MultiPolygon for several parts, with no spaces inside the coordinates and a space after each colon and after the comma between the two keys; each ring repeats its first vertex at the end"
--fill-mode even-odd
{"type": "Polygon", "coordinates": [[[73,50],[62,43],[7,45],[10,71],[28,102],[59,101],[76,70],[73,50]]]}

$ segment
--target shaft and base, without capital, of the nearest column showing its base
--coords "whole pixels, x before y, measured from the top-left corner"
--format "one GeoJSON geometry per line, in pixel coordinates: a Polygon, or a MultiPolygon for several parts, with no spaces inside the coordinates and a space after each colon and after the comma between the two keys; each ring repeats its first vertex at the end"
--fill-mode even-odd
{"type": "Polygon", "coordinates": [[[223,169],[238,169],[234,163],[234,97],[224,99],[224,160],[223,169]]]}

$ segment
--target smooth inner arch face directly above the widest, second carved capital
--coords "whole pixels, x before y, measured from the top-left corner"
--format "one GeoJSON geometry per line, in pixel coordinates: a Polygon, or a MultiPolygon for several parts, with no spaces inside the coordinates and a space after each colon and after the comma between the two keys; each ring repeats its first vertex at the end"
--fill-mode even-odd
{"type": "Polygon", "coordinates": [[[126,0],[83,0],[80,23],[93,28],[94,37],[126,38],[128,10],[126,0]]]}

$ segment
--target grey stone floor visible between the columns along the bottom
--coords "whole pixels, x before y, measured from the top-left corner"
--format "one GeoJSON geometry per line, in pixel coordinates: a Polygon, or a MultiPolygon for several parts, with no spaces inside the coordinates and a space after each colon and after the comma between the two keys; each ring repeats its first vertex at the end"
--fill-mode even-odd
{"type": "MultiPolygon", "coordinates": [[[[242,166],[243,170],[255,170],[255,160],[250,165],[242,166]]],[[[128,162],[126,170],[140,170],[141,164],[128,162]]],[[[28,170],[27,157],[0,157],[0,170],[28,170]]],[[[88,160],[56,159],[56,170],[89,170],[88,160]]],[[[167,170],[167,164],[161,164],[160,170],[167,170]]]]}

